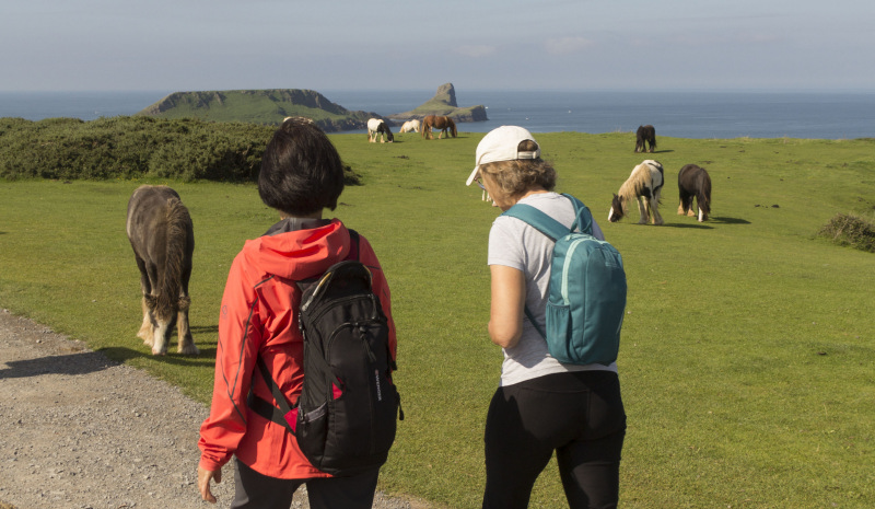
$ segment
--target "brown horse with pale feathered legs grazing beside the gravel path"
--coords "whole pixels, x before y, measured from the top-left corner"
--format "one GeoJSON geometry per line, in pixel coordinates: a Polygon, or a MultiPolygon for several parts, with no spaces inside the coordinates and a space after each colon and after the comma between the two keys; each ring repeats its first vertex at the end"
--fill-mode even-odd
{"type": "Polygon", "coordinates": [[[128,201],[126,230],[143,292],[143,324],[137,336],[152,347],[152,355],[164,355],[175,325],[177,351],[198,354],[188,328],[188,280],[195,251],[188,209],[170,187],[143,185],[128,201]]]}

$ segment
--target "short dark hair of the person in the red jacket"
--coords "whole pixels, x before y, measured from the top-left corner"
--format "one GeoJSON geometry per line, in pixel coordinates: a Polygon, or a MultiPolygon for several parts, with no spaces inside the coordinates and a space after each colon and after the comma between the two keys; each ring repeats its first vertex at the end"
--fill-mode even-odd
{"type": "Polygon", "coordinates": [[[334,210],[342,192],[343,165],[325,132],[308,118],[287,118],[261,157],[261,201],[302,217],[324,208],[334,210]]]}

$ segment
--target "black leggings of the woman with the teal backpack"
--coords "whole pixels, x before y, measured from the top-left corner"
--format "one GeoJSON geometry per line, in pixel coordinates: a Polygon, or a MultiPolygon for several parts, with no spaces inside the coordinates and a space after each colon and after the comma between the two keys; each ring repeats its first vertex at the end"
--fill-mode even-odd
{"type": "Polygon", "coordinates": [[[553,451],[571,508],[617,507],[626,412],[611,371],[499,387],[486,420],[483,508],[525,508],[553,451]]]}

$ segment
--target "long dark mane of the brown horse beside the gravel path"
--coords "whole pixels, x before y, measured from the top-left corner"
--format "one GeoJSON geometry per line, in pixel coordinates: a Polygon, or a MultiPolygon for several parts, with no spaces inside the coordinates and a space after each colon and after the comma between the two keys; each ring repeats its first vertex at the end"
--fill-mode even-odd
{"type": "Polygon", "coordinates": [[[172,320],[174,310],[185,308],[187,304],[187,302],[180,301],[182,296],[179,293],[191,217],[180,200],[171,198],[167,200],[165,220],[167,225],[166,254],[163,277],[155,302],[155,314],[160,319],[172,320]]]}

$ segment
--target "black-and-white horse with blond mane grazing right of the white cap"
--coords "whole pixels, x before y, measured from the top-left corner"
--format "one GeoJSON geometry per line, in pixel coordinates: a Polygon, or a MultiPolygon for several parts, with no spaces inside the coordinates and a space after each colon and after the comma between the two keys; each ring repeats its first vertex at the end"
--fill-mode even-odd
{"type": "Polygon", "coordinates": [[[620,186],[610,204],[608,221],[617,222],[627,215],[629,201],[638,200],[638,210],[641,213],[639,224],[646,224],[648,219],[653,224],[662,224],[660,216],[660,193],[663,188],[663,165],[657,161],[646,160],[632,170],[632,174],[620,186]]]}

